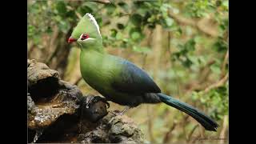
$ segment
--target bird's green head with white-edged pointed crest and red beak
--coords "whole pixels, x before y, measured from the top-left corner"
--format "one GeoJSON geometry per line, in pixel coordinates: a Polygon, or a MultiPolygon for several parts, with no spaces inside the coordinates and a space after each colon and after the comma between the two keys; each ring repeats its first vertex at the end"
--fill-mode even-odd
{"type": "Polygon", "coordinates": [[[81,18],[68,42],[78,42],[82,47],[102,46],[102,35],[93,15],[87,13],[81,18]]]}

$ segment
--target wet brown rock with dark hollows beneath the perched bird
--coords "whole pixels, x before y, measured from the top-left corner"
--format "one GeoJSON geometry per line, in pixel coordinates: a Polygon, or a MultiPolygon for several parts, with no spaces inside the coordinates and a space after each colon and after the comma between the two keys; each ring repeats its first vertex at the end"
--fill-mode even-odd
{"type": "Polygon", "coordinates": [[[106,102],[82,96],[77,86],[62,81],[44,63],[28,60],[27,66],[29,142],[143,142],[138,126],[125,115],[108,113],[106,102]]]}

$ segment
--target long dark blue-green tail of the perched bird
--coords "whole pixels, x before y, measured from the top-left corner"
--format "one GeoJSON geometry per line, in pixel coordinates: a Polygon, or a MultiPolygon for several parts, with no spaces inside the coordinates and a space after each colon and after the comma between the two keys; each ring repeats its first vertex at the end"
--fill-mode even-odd
{"type": "Polygon", "coordinates": [[[197,120],[206,130],[216,131],[218,124],[214,122],[209,116],[203,114],[202,111],[197,110],[193,106],[186,104],[185,102],[180,102],[178,99],[172,98],[166,94],[158,94],[158,97],[162,102],[169,106],[173,106],[178,110],[182,110],[186,114],[189,114],[195,120],[197,120]]]}

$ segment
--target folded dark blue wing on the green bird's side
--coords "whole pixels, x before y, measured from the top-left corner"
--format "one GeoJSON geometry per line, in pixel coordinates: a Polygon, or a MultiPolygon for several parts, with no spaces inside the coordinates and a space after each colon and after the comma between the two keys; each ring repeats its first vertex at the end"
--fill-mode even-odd
{"type": "Polygon", "coordinates": [[[161,93],[160,88],[146,72],[132,62],[123,61],[122,70],[112,83],[114,90],[128,94],[161,93]]]}

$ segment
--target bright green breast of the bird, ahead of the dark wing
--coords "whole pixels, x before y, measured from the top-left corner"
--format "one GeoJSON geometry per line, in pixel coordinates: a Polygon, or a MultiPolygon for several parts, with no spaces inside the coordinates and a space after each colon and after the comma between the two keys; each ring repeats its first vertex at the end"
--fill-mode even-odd
{"type": "Polygon", "coordinates": [[[80,69],[82,78],[101,94],[110,94],[114,76],[121,71],[122,65],[109,54],[94,50],[81,51],[80,69]]]}

